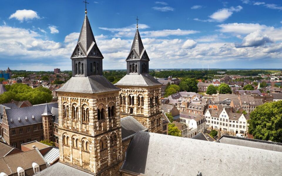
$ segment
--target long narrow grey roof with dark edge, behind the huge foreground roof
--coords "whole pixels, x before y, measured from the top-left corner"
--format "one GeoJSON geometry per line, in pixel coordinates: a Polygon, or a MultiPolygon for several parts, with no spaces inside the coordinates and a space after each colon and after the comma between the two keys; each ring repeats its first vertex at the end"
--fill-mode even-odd
{"type": "Polygon", "coordinates": [[[282,143],[262,141],[258,139],[239,138],[235,136],[223,135],[216,142],[282,152],[282,143]]]}

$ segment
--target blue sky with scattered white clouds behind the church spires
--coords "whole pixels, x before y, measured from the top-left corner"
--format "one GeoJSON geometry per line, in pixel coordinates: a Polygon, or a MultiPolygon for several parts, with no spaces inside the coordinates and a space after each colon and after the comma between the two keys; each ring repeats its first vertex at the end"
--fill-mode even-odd
{"type": "MultiPolygon", "coordinates": [[[[70,70],[82,0],[2,1],[0,70],[70,70]]],[[[104,69],[125,69],[136,30],[150,68],[281,68],[282,1],[90,1],[104,69]]]]}

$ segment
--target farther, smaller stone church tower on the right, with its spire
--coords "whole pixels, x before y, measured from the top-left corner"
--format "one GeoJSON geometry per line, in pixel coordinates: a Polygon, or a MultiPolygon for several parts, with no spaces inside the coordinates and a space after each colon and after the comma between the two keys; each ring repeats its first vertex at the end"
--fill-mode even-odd
{"type": "Polygon", "coordinates": [[[126,58],[127,75],[115,85],[120,91],[120,116],[133,116],[153,133],[162,133],[161,83],[149,74],[149,57],[138,25],[126,58]]]}

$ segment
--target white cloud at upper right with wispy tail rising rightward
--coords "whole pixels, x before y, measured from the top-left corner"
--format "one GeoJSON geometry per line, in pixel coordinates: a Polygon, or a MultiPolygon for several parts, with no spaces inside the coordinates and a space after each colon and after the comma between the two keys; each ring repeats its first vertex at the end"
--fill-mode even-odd
{"type": "Polygon", "coordinates": [[[217,22],[222,22],[222,21],[225,21],[227,18],[229,18],[233,14],[233,12],[239,12],[242,9],[243,9],[242,6],[230,7],[229,9],[226,9],[226,8],[219,9],[218,11],[210,15],[209,18],[217,22]]]}

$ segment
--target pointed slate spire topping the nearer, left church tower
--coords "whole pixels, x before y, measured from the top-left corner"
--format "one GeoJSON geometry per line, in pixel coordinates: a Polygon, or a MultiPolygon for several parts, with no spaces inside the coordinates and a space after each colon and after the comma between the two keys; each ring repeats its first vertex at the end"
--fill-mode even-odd
{"type": "Polygon", "coordinates": [[[81,46],[83,53],[86,55],[93,42],[96,43],[88,17],[85,14],[77,43],[81,46]]]}

